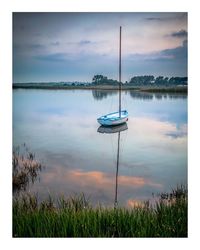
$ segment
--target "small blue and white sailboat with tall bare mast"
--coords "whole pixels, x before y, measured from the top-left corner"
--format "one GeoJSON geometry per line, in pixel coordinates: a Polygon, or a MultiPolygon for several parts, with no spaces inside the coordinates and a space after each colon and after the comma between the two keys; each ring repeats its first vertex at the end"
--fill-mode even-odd
{"type": "Polygon", "coordinates": [[[103,115],[97,119],[97,121],[103,126],[116,126],[123,124],[128,121],[128,111],[121,110],[121,37],[122,37],[122,27],[120,26],[119,32],[119,111],[110,114],[103,115]]]}

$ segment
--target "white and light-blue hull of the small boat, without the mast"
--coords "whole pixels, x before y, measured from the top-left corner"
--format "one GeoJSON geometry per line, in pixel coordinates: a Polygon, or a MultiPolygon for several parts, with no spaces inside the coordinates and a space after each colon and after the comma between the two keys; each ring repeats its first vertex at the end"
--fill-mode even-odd
{"type": "Polygon", "coordinates": [[[103,126],[120,125],[128,121],[128,112],[126,110],[121,111],[121,116],[119,112],[103,115],[99,117],[97,121],[103,126]]]}

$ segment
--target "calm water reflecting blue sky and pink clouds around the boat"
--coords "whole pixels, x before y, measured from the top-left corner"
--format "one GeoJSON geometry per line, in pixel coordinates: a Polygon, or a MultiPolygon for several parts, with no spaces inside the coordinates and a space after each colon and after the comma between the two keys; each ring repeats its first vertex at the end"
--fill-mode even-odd
{"type": "MultiPolygon", "coordinates": [[[[13,144],[26,143],[45,165],[30,192],[41,199],[84,192],[93,204],[114,203],[119,133],[98,132],[96,119],[117,103],[116,92],[14,90],[13,144]]],[[[129,121],[120,132],[119,205],[186,184],[187,96],[127,91],[122,106],[129,121]]]]}

